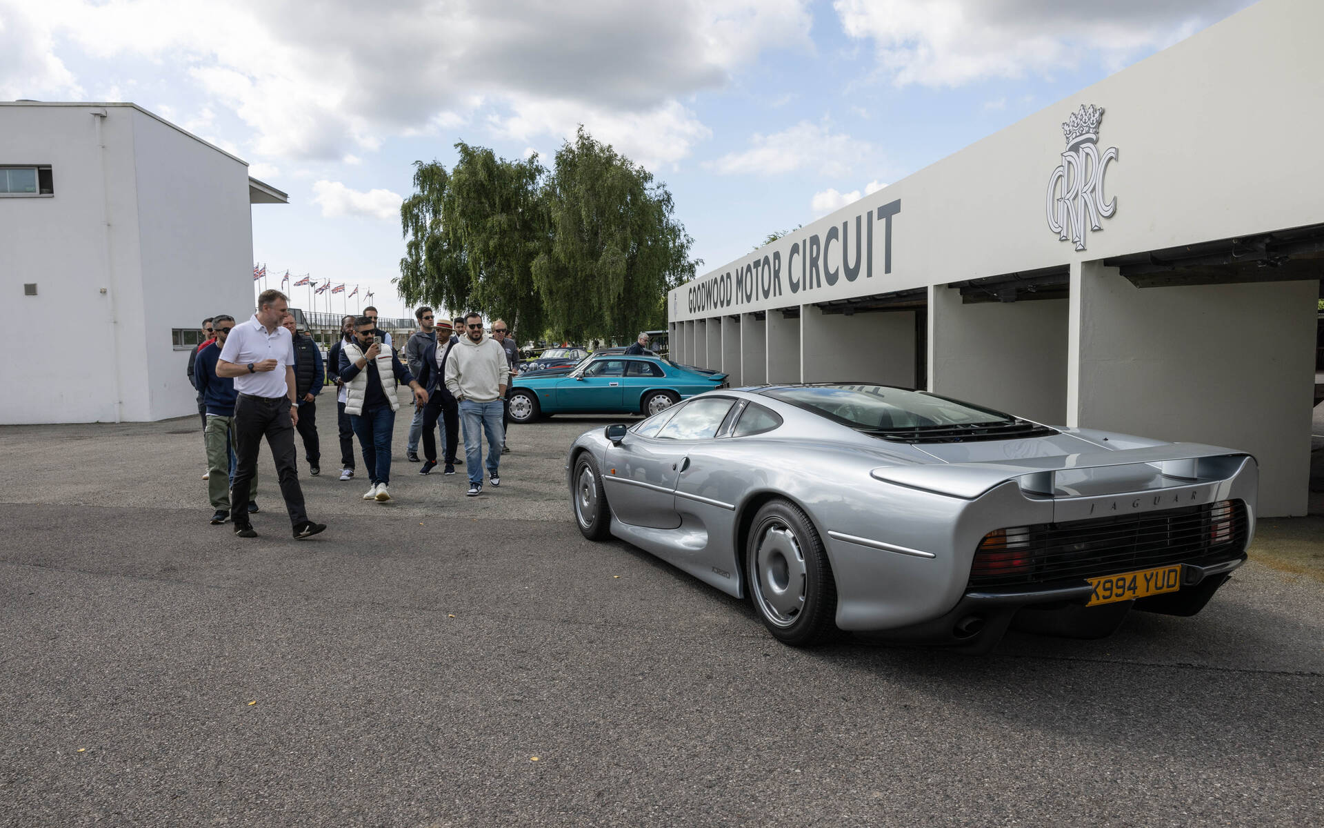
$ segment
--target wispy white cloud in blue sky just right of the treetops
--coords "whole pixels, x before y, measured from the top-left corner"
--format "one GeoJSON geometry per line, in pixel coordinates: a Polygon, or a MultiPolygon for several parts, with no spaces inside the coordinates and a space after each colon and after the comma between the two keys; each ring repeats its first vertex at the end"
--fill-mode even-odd
{"type": "Polygon", "coordinates": [[[826,125],[801,121],[772,135],[755,134],[743,152],[728,152],[704,164],[723,175],[780,175],[813,170],[826,178],[845,178],[861,164],[876,166],[878,151],[867,140],[833,132],[826,125]]]}

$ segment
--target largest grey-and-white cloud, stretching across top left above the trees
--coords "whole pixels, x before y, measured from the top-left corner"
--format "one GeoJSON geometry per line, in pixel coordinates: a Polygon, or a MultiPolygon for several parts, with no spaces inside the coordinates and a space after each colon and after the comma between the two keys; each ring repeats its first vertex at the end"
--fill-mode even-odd
{"type": "Polygon", "coordinates": [[[335,162],[392,135],[453,131],[482,106],[511,135],[563,139],[584,123],[666,163],[708,135],[682,99],[765,50],[813,49],[806,7],[326,0],[308,13],[298,0],[0,0],[0,91],[78,97],[68,49],[192,79],[267,158],[335,162]]]}

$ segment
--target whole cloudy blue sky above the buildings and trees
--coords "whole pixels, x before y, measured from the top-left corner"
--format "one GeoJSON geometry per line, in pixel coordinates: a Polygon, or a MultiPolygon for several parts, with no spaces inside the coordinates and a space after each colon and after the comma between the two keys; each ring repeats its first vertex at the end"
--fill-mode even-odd
{"type": "Polygon", "coordinates": [[[0,99],[132,101],[233,152],[290,193],[258,261],[404,315],[397,208],[457,140],[549,164],[583,123],[715,268],[1246,5],[0,0],[0,99]]]}

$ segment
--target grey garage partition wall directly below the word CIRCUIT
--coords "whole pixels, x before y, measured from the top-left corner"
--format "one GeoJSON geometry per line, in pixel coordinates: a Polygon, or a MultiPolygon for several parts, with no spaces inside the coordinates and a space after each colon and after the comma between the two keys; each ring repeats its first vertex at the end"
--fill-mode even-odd
{"type": "Polygon", "coordinates": [[[847,317],[801,305],[800,323],[802,382],[915,386],[915,311],[847,317]]]}

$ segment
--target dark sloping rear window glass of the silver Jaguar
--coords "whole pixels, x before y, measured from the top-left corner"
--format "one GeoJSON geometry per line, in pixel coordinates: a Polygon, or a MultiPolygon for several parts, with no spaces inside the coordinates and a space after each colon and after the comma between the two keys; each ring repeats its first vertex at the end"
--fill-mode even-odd
{"type": "Polygon", "coordinates": [[[764,393],[861,431],[1002,425],[1017,421],[992,408],[890,386],[808,386],[769,388],[764,393]]]}

